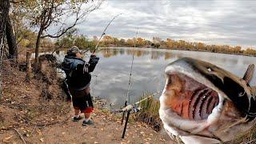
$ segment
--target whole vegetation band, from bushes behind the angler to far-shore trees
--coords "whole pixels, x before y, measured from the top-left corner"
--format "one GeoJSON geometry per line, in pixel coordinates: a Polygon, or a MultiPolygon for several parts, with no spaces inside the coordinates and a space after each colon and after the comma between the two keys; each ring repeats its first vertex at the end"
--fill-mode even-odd
{"type": "MultiPolygon", "coordinates": [[[[20,42],[19,47],[23,47],[20,50],[31,52],[34,51],[35,39],[33,32],[30,32],[30,36],[23,39],[20,42]],[[25,50],[24,50],[25,48],[25,50]]],[[[69,33],[64,34],[56,41],[51,41],[49,38],[43,38],[41,42],[41,52],[64,50],[70,46],[78,46],[82,50],[94,50],[94,47],[98,43],[98,37],[94,36],[92,39],[86,35],[76,34],[76,30],[71,30],[69,33]]],[[[228,45],[207,45],[203,42],[186,42],[184,40],[173,40],[167,38],[154,37],[152,40],[146,40],[145,38],[114,38],[110,35],[105,35],[99,42],[99,47],[136,47],[136,48],[154,48],[154,49],[166,49],[166,50],[189,50],[189,51],[202,51],[219,54],[237,54],[256,57],[256,49],[252,47],[242,48],[242,46],[228,46],[228,45]]]]}

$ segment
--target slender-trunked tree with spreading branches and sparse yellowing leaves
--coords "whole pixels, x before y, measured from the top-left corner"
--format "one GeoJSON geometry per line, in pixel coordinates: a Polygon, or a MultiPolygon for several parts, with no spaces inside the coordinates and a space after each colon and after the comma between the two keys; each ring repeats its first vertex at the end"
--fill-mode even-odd
{"type": "Polygon", "coordinates": [[[42,38],[61,37],[74,26],[84,22],[86,15],[98,9],[101,4],[101,0],[97,2],[93,0],[31,0],[26,2],[22,8],[28,14],[30,25],[38,30],[35,66],[38,64],[39,45],[42,38]]]}

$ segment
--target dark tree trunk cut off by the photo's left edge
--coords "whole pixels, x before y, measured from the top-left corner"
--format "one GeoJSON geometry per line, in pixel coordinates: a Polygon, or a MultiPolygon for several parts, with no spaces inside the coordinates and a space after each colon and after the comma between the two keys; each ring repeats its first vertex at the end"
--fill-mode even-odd
{"type": "Polygon", "coordinates": [[[6,34],[6,16],[9,13],[9,1],[0,0],[0,98],[2,97],[2,56],[6,34]]]}

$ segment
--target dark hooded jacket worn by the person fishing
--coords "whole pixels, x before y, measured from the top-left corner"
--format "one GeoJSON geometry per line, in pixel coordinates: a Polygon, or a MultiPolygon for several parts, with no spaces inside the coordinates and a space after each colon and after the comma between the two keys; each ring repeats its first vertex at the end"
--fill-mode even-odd
{"type": "Polygon", "coordinates": [[[91,55],[88,63],[82,58],[66,55],[62,62],[62,70],[66,73],[69,89],[83,90],[90,85],[90,72],[94,71],[98,57],[91,55]]]}

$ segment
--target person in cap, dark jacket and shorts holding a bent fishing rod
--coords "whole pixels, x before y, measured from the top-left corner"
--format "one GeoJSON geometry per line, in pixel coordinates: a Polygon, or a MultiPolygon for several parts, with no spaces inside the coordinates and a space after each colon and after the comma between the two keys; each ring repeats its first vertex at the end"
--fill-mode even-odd
{"type": "Polygon", "coordinates": [[[81,111],[85,115],[82,126],[94,124],[90,119],[90,114],[94,110],[90,96],[90,72],[94,71],[98,59],[95,54],[91,54],[89,62],[86,62],[82,59],[82,51],[77,46],[72,46],[67,50],[62,62],[62,70],[66,73],[66,84],[72,95],[74,106],[73,121],[78,122],[82,119],[82,116],[79,114],[81,111]]]}

